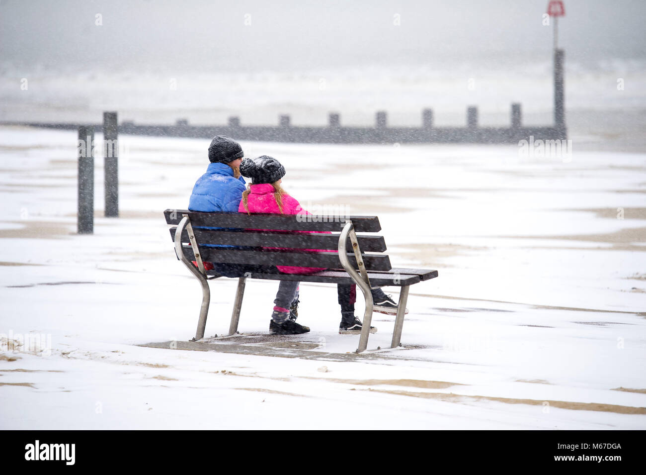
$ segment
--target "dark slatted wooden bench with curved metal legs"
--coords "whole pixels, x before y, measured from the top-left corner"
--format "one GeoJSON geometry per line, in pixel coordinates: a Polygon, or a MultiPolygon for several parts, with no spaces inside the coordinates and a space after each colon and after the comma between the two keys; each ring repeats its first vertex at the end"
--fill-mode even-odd
{"type": "Polygon", "coordinates": [[[437,277],[435,270],[392,268],[390,258],[383,254],[386,251],[386,243],[382,236],[356,234],[380,231],[381,226],[377,216],[246,215],[245,213],[202,213],[181,209],[167,209],[164,215],[167,224],[174,225],[170,231],[178,259],[182,260],[202,284],[202,307],[194,341],[204,337],[211,298],[208,280],[220,277],[213,270],[205,270],[203,262],[327,269],[310,274],[285,274],[278,272],[277,269],[245,273],[244,277],[238,279],[229,335],[238,331],[242,297],[248,278],[357,284],[366,300],[363,330],[357,352],[366,350],[368,346],[373,313],[371,286],[401,287],[399,310],[391,342],[391,347],[395,348],[399,346],[401,340],[408,288],[422,280],[437,277]],[[221,229],[205,229],[205,227],[221,229]],[[272,231],[259,231],[261,229],[272,231]],[[318,233],[293,231],[318,231],[318,233]],[[331,233],[325,233],[326,231],[331,233]],[[218,248],[207,245],[240,247],[218,248]],[[263,247],[289,248],[289,250],[262,249],[263,247]],[[326,251],[311,252],[305,249],[326,249],[326,251]],[[198,265],[195,266],[192,261],[196,261],[198,265]]]}

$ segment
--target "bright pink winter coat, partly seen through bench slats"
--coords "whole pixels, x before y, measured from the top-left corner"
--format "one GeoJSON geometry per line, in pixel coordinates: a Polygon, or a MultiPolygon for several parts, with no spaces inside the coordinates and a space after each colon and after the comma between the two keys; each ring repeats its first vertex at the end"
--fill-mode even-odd
{"type": "MultiPolygon", "coordinates": [[[[247,195],[247,207],[249,208],[249,213],[273,213],[275,215],[280,215],[280,208],[278,208],[278,203],[276,203],[276,198],[274,197],[275,189],[271,183],[264,183],[260,185],[251,185],[251,193],[247,195]]],[[[282,205],[283,205],[283,214],[284,215],[311,215],[309,211],[306,211],[300,207],[298,201],[289,195],[282,196],[282,205]]],[[[247,213],[247,210],[244,209],[244,202],[240,201],[240,206],[238,207],[240,213],[247,213]]],[[[262,231],[271,231],[271,229],[262,229],[262,231]]],[[[307,233],[318,231],[295,231],[297,233],[307,233]]],[[[289,251],[289,248],[263,248],[263,249],[284,249],[289,251]]],[[[304,249],[298,249],[299,251],[304,249]]],[[[305,249],[307,251],[325,251],[325,249],[305,249]]],[[[295,266],[276,266],[279,271],[286,274],[307,274],[312,272],[318,272],[325,270],[326,268],[315,268],[315,267],[295,267],[295,266]]]]}

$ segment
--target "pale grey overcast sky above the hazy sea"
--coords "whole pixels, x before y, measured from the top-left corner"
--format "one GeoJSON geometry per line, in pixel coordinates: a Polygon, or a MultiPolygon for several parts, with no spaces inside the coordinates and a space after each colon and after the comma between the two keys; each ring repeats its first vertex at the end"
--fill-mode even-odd
{"type": "MultiPolygon", "coordinates": [[[[541,25],[547,3],[0,0],[0,61],[22,68],[304,71],[544,60],[552,47],[552,28],[541,25]]],[[[565,0],[565,8],[559,43],[569,61],[646,57],[646,1],[565,0]]]]}

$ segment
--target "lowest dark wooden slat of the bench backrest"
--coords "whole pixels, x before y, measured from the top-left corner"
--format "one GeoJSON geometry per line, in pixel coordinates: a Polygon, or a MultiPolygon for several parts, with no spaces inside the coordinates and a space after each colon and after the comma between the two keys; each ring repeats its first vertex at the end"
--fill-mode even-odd
{"type": "MultiPolygon", "coordinates": [[[[183,246],[184,255],[189,260],[195,260],[191,246],[183,246]]],[[[298,252],[298,251],[269,251],[244,250],[226,248],[200,248],[202,260],[205,262],[228,262],[231,264],[262,264],[264,266],[298,266],[340,269],[343,266],[339,254],[335,252],[298,252]]],[[[391,269],[390,257],[379,254],[362,254],[364,265],[368,270],[387,271],[391,269]]],[[[351,265],[357,268],[357,259],[348,254],[351,265]]]]}

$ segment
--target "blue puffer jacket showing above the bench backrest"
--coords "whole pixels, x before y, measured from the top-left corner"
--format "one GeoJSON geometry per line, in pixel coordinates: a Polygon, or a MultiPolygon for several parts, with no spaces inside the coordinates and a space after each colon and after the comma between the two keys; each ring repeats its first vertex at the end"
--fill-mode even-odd
{"type": "Polygon", "coordinates": [[[206,173],[198,178],[189,200],[189,211],[228,211],[238,213],[245,190],[245,181],[233,177],[227,164],[209,164],[206,173]]]}

